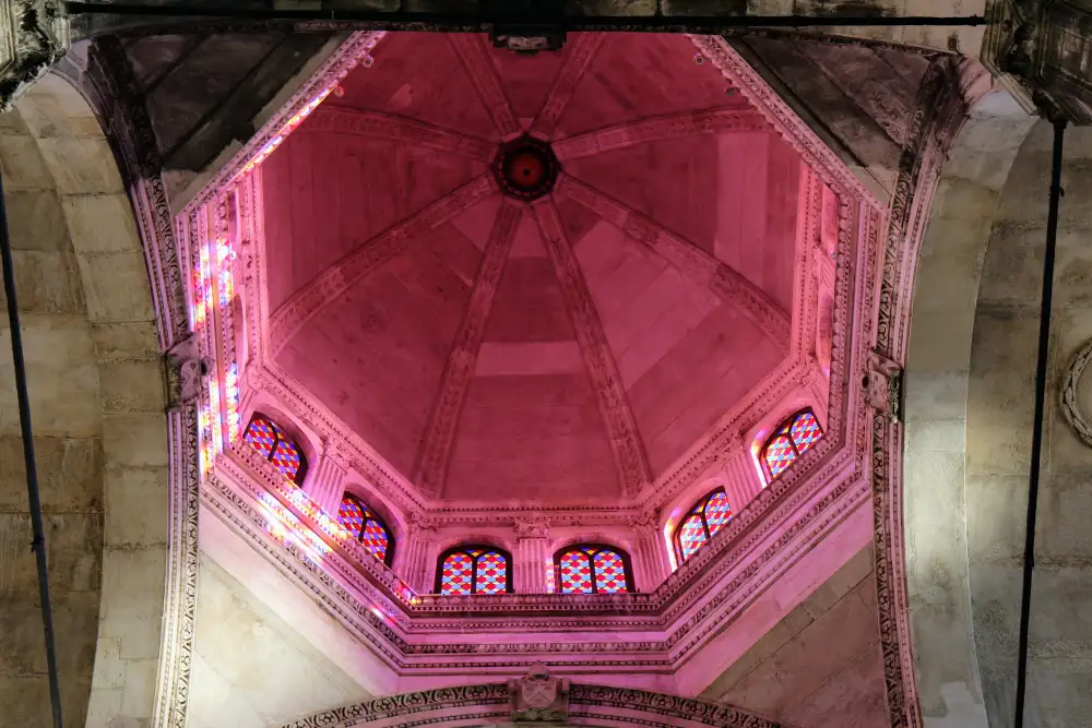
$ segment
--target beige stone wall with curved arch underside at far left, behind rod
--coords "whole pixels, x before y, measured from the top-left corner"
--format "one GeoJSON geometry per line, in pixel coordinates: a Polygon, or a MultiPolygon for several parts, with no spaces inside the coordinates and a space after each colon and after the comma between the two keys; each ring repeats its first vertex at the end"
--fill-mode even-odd
{"type": "MultiPolygon", "coordinates": [[[[140,238],[98,122],[60,79],[47,76],[0,117],[0,169],[64,721],[147,726],[159,653],[167,438],[140,238]]],[[[7,318],[0,339],[0,705],[5,723],[46,726],[7,318]]]]}

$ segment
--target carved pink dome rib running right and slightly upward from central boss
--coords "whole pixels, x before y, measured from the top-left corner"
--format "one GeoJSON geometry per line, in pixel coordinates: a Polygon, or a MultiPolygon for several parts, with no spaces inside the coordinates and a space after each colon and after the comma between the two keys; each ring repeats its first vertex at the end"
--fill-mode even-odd
{"type": "Polygon", "coordinates": [[[759,129],[769,129],[769,124],[761,114],[749,106],[719,106],[711,109],[681,111],[638,121],[627,121],[586,134],[569,136],[554,142],[554,154],[557,155],[558,159],[565,162],[665,139],[759,129]]]}

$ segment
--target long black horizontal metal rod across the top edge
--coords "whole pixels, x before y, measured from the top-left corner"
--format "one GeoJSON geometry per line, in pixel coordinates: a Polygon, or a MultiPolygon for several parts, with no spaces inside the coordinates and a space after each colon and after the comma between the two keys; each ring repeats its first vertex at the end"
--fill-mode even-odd
{"type": "Polygon", "coordinates": [[[900,27],[900,26],[975,26],[985,25],[982,15],[644,15],[619,17],[607,15],[566,15],[562,13],[518,13],[510,11],[477,13],[414,13],[376,10],[273,10],[265,8],[215,8],[209,5],[144,5],[134,3],[66,2],[69,15],[144,15],[147,17],[230,19],[238,21],[327,21],[334,23],[368,23],[444,26],[460,29],[468,26],[547,24],[568,31],[626,29],[642,27],[658,33],[695,32],[729,27],[900,27]]]}

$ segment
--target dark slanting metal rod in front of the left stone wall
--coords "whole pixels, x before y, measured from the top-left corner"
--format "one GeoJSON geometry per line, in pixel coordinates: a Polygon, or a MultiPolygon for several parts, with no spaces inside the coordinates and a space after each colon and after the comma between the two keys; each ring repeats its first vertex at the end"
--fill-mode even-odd
{"type": "Polygon", "coordinates": [[[61,728],[61,691],[57,679],[57,648],[54,643],[54,610],[49,601],[49,574],[46,571],[46,535],[41,527],[41,499],[38,497],[38,469],[34,462],[34,439],[31,429],[31,401],[26,395],[26,363],[23,361],[23,335],[19,327],[19,303],[15,300],[15,273],[12,265],[11,239],[8,236],[8,210],[0,179],[0,265],[3,267],[3,293],[8,298],[8,326],[11,329],[11,359],[15,369],[15,397],[19,399],[19,427],[23,437],[23,463],[26,466],[26,493],[31,501],[31,529],[38,565],[38,599],[41,601],[41,626],[46,634],[46,668],[49,672],[49,703],[54,711],[54,728],[61,728]]]}

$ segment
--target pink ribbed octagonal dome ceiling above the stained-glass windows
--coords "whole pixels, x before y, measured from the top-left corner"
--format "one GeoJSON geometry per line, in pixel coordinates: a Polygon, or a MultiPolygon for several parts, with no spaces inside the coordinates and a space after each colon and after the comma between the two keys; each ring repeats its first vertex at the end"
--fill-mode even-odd
{"type": "Polygon", "coordinates": [[[425,492],[636,493],[788,356],[802,163],[687,38],[372,52],[262,165],[266,334],[425,492]]]}

